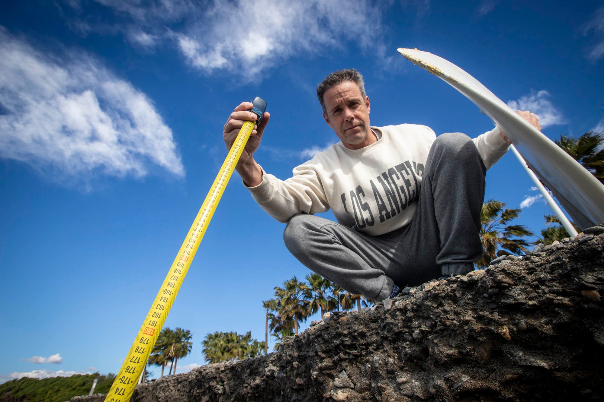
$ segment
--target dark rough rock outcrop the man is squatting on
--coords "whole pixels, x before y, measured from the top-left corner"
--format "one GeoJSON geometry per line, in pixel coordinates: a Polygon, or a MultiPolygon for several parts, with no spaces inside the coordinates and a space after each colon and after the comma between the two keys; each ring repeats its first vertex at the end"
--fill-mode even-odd
{"type": "Polygon", "coordinates": [[[132,401],[603,400],[604,234],[584,238],[332,314],[275,353],[132,401]]]}

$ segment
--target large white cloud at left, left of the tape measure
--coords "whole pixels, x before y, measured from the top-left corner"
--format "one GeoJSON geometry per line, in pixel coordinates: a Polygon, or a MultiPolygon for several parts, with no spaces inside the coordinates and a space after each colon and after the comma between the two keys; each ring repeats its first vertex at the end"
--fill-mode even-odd
{"type": "Polygon", "coordinates": [[[0,158],[65,178],[184,167],[152,101],[86,54],[47,56],[0,27],[0,158]]]}

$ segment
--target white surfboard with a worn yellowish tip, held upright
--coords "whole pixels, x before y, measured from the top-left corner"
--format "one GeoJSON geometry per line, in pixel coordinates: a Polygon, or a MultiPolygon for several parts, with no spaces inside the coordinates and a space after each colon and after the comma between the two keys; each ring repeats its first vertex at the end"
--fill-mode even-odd
{"type": "Polygon", "coordinates": [[[442,78],[480,107],[506,133],[576,225],[588,228],[604,222],[604,185],[579,162],[463,69],[432,53],[417,49],[397,50],[407,60],[442,78]]]}

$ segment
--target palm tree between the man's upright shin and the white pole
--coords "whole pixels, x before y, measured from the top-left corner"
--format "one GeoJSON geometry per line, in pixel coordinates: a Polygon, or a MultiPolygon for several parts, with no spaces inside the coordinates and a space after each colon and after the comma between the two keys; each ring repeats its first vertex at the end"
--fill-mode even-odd
{"type": "Polygon", "coordinates": [[[476,263],[479,267],[489,266],[490,261],[500,255],[518,254],[526,250],[528,243],[522,237],[533,235],[533,232],[523,225],[507,225],[511,220],[518,218],[521,209],[504,209],[505,206],[506,203],[493,199],[483,204],[480,212],[483,257],[476,263]],[[512,238],[513,236],[516,238],[512,238]]]}

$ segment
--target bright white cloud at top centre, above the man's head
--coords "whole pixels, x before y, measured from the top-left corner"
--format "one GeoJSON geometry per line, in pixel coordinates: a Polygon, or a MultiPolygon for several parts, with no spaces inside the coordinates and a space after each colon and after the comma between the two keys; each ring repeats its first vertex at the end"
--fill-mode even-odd
{"type": "Polygon", "coordinates": [[[381,5],[370,0],[215,2],[204,19],[174,37],[192,66],[254,77],[290,56],[343,49],[341,43],[349,40],[385,54],[379,37],[381,13],[381,5]]]}

